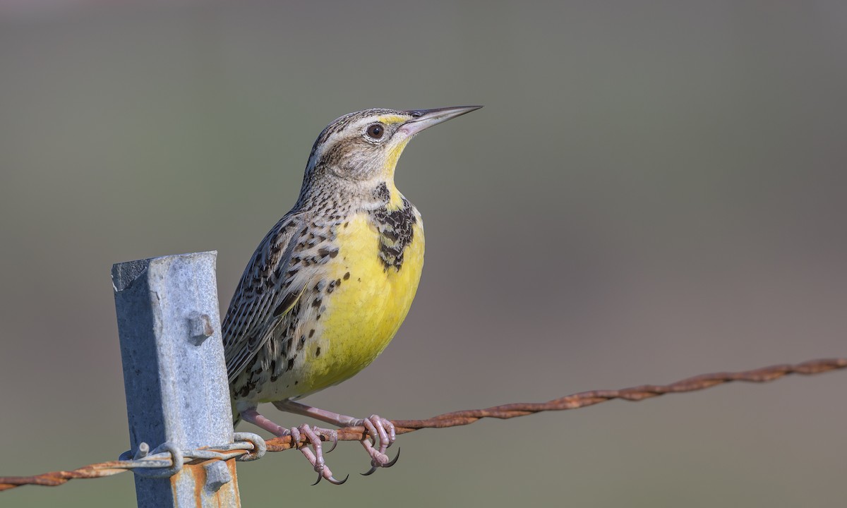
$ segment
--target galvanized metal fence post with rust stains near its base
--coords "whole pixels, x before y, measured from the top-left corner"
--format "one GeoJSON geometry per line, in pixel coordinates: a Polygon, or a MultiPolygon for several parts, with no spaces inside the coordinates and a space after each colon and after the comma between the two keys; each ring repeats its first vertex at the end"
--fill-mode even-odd
{"type": "MultiPolygon", "coordinates": [[[[142,443],[169,450],[232,443],[216,257],[197,252],[112,268],[136,456],[145,453],[142,443]]],[[[136,498],[140,508],[240,506],[235,461],[185,465],[168,478],[136,474],[136,498]]]]}

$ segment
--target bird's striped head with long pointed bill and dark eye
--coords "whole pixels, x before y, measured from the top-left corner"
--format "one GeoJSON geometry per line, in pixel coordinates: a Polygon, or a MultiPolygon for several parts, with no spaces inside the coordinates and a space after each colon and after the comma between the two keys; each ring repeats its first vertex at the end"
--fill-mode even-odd
{"type": "Polygon", "coordinates": [[[415,109],[365,109],[335,119],[318,135],[309,155],[307,186],[346,180],[357,187],[393,182],[397,160],[418,132],[482,106],[415,109]],[[322,182],[323,180],[323,182],[322,182]]]}

